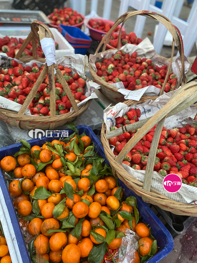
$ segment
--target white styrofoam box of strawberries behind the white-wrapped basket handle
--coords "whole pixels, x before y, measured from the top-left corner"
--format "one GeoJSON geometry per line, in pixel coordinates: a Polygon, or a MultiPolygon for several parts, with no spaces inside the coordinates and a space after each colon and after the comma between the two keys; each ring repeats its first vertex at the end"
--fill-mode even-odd
{"type": "MultiPolygon", "coordinates": [[[[55,42],[58,43],[58,49],[55,51],[56,60],[61,59],[64,55],[72,55],[75,54],[74,48],[69,44],[69,42],[63,37],[63,35],[53,27],[50,27],[50,30],[54,36],[55,42]]],[[[19,27],[16,28],[13,27],[1,27],[0,28],[0,38],[5,37],[6,35],[9,37],[16,37],[17,39],[27,38],[28,34],[30,33],[31,28],[30,27],[19,27]],[[5,32],[5,33],[4,33],[5,32]],[[21,32],[21,34],[20,34],[21,32]]]]}

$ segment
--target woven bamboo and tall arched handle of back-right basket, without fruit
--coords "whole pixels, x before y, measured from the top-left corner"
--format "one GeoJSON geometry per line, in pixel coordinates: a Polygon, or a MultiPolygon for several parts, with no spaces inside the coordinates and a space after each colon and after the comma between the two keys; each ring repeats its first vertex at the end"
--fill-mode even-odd
{"type": "MultiPolygon", "coordinates": [[[[186,84],[187,83],[187,79],[186,79],[185,73],[184,73],[183,41],[182,41],[182,37],[181,37],[180,31],[178,30],[178,28],[176,26],[174,26],[171,23],[171,21],[167,17],[165,17],[162,14],[158,14],[158,13],[151,12],[151,11],[140,10],[140,11],[131,11],[131,12],[128,12],[128,13],[125,13],[125,14],[121,15],[116,20],[116,22],[114,23],[112,28],[108,31],[108,33],[105,35],[105,37],[101,40],[99,46],[97,47],[97,50],[96,50],[95,54],[99,51],[99,49],[100,49],[100,47],[101,47],[101,45],[103,43],[104,43],[104,46],[103,46],[103,50],[102,51],[106,51],[106,45],[107,45],[108,39],[109,39],[112,31],[116,28],[116,26],[120,25],[120,23],[122,23],[122,26],[123,26],[124,22],[128,18],[130,18],[130,17],[132,17],[134,15],[143,15],[143,16],[147,16],[147,17],[150,17],[150,18],[154,18],[157,21],[161,22],[170,31],[170,33],[171,33],[171,35],[173,37],[173,45],[172,45],[171,57],[173,57],[173,55],[174,55],[174,42],[175,42],[176,46],[177,46],[177,48],[179,50],[179,54],[180,54],[180,58],[181,58],[181,65],[182,65],[181,74],[180,74],[180,78],[179,78],[179,82],[178,82],[177,87],[180,86],[181,81],[182,81],[182,85],[186,84]]],[[[122,28],[122,26],[121,26],[121,28],[122,28]]],[[[116,48],[116,50],[120,49],[120,41],[121,41],[120,36],[121,36],[121,29],[120,29],[120,32],[119,32],[118,47],[116,48]]],[[[111,50],[112,49],[109,49],[106,52],[111,51],[111,50]]],[[[161,57],[161,58],[164,58],[164,57],[161,57]]],[[[164,59],[166,59],[166,58],[164,58],[164,59]]],[[[168,68],[170,68],[170,67],[171,67],[171,61],[170,61],[170,64],[169,64],[168,68]]],[[[100,91],[105,96],[107,96],[109,99],[111,99],[112,101],[114,101],[116,103],[125,101],[124,95],[121,94],[120,92],[118,92],[118,88],[112,86],[111,84],[105,82],[99,76],[97,76],[96,72],[94,71],[94,69],[93,69],[93,67],[91,66],[90,63],[89,63],[89,69],[90,69],[90,74],[91,74],[92,80],[94,82],[98,83],[99,85],[101,85],[100,91]]],[[[164,88],[165,88],[165,84],[167,83],[168,75],[169,75],[169,71],[168,71],[168,73],[166,75],[166,78],[165,78],[165,81],[164,81],[164,84],[163,84],[164,88]]],[[[161,91],[160,95],[161,94],[163,94],[163,91],[161,91]]],[[[142,98],[143,99],[144,98],[149,99],[147,96],[143,96],[142,98]]],[[[137,101],[135,101],[135,103],[137,103],[137,101]]]]}

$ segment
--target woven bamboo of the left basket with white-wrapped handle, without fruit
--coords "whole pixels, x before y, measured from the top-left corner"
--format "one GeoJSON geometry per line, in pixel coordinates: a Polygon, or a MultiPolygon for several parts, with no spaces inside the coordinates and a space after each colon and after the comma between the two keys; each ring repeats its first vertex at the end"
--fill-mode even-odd
{"type": "MultiPolygon", "coordinates": [[[[51,33],[48,26],[46,26],[40,21],[33,21],[31,23],[31,32],[29,36],[26,38],[25,42],[23,43],[21,49],[18,51],[19,54],[17,55],[20,57],[20,53],[24,51],[25,47],[33,39],[34,39],[33,42],[36,43],[35,41],[36,38],[40,41],[41,39],[45,37],[46,38],[51,37],[54,39],[53,34],[51,33]],[[38,31],[39,31],[39,34],[38,34],[38,31]]],[[[32,47],[33,47],[33,42],[32,42],[32,47]]],[[[33,54],[34,55],[37,54],[37,51],[36,50],[34,51],[35,52],[33,52],[33,54]]],[[[35,59],[34,55],[33,55],[33,58],[32,57],[29,59],[27,58],[28,61],[26,62],[30,62],[32,59],[35,59]]],[[[57,64],[53,63],[53,65],[49,67],[47,66],[47,64],[45,64],[43,70],[41,71],[40,76],[38,77],[36,83],[34,84],[32,90],[30,91],[30,94],[27,96],[25,102],[23,103],[18,113],[0,108],[0,118],[6,123],[11,124],[12,126],[19,127],[21,129],[35,129],[35,128],[54,129],[65,123],[69,123],[77,119],[77,117],[79,117],[81,114],[83,114],[87,110],[91,101],[92,99],[88,100],[82,106],[77,107],[77,103],[75,102],[75,99],[70,91],[70,88],[67,82],[65,81],[57,64]],[[56,101],[55,101],[54,68],[56,70],[56,76],[59,79],[61,85],[63,86],[63,89],[66,92],[67,96],[69,97],[69,100],[73,106],[73,111],[70,111],[62,115],[55,115],[56,101]],[[38,88],[40,87],[47,71],[49,74],[50,116],[24,115],[32,99],[34,98],[36,92],[38,91],[38,88]]]]}

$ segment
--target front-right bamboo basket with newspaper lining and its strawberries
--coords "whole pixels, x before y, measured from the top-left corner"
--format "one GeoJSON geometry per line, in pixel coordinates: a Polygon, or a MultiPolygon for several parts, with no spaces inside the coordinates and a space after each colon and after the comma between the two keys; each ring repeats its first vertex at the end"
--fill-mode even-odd
{"type": "MultiPolygon", "coordinates": [[[[113,111],[116,111],[113,117],[114,121],[112,120],[110,126],[112,131],[109,131],[108,128],[108,133],[106,133],[104,123],[101,130],[101,142],[104,146],[106,157],[112,166],[112,171],[116,171],[119,179],[127,183],[127,186],[131,187],[136,194],[143,198],[148,198],[150,203],[156,204],[164,210],[173,211],[173,213],[178,215],[197,215],[195,202],[189,201],[191,192],[195,191],[194,187],[196,187],[197,183],[195,178],[197,172],[197,124],[195,123],[196,117],[194,119],[195,115],[192,118],[189,117],[193,114],[189,106],[196,99],[195,85],[195,82],[191,82],[180,87],[176,92],[171,91],[172,95],[169,101],[166,104],[161,104],[160,110],[157,108],[155,114],[151,113],[148,116],[144,116],[145,119],[144,117],[140,119],[141,113],[140,109],[138,109],[140,104],[133,105],[132,101],[126,101],[125,104],[130,107],[124,108],[122,110],[124,113],[118,116],[120,108],[117,104],[114,109],[109,109],[106,112],[110,119],[113,111]],[[186,108],[190,114],[185,119],[180,115],[179,117],[182,116],[182,121],[179,121],[179,118],[177,119],[174,114],[182,112],[180,114],[184,115],[187,110],[183,110],[186,108]],[[173,123],[173,119],[176,121],[175,127],[171,127],[171,129],[164,127],[166,116],[172,116],[171,122],[173,123]],[[189,120],[191,121],[185,124],[189,120]],[[136,178],[138,170],[141,170],[142,173],[140,174],[145,176],[141,181],[136,178]],[[185,189],[186,187],[188,192],[185,198],[181,192],[181,195],[178,197],[168,196],[168,198],[163,193],[160,193],[161,191],[158,192],[158,188],[155,191],[154,185],[151,188],[152,176],[153,178],[158,177],[158,180],[160,178],[163,181],[162,176],[166,176],[169,173],[177,174],[182,179],[182,188],[185,189]],[[147,180],[150,182],[148,185],[147,180]]],[[[163,96],[165,97],[166,95],[163,96]]],[[[140,108],[144,114],[143,105],[140,108]]],[[[193,108],[195,109],[195,107],[193,108]]],[[[156,109],[156,106],[150,107],[148,112],[154,112],[154,109],[156,109]]],[[[196,109],[194,112],[196,113],[196,109]]],[[[167,125],[171,126],[173,124],[167,125]]]]}

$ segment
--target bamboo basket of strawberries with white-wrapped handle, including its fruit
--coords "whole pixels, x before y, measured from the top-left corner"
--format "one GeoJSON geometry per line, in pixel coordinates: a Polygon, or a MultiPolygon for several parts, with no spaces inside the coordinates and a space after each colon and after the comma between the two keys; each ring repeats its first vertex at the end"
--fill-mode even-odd
{"type": "MultiPolygon", "coordinates": [[[[40,26],[40,30],[44,30],[53,36],[46,25],[40,25],[40,22],[33,22],[32,25],[34,28],[37,27],[37,30],[40,26]]],[[[26,43],[24,42],[25,44],[22,45],[17,55],[22,53],[28,41],[31,41],[32,35],[31,31],[26,43]]],[[[42,39],[45,34],[40,33],[39,36],[42,39]]],[[[27,59],[31,61],[32,58],[28,57],[27,59]]],[[[20,122],[20,127],[29,129],[32,127],[40,128],[42,123],[42,128],[46,129],[63,125],[80,116],[88,108],[91,99],[77,107],[77,103],[86,99],[86,96],[84,95],[85,80],[76,73],[75,67],[77,66],[76,63],[80,62],[84,65],[85,61],[82,62],[81,60],[85,60],[85,58],[82,55],[77,55],[77,58],[71,56],[72,59],[75,60],[75,66],[72,69],[55,63],[49,67],[46,63],[41,67],[37,66],[37,64],[42,65],[41,63],[30,62],[25,65],[10,59],[11,68],[2,67],[1,69],[1,92],[5,93],[6,98],[22,104],[22,107],[18,113],[0,109],[1,118],[14,126],[19,126],[20,122]],[[55,75],[54,68],[56,70],[55,75]],[[74,110],[70,111],[72,106],[74,110]],[[34,116],[24,115],[28,108],[34,116]]],[[[5,65],[7,65],[8,60],[3,60],[5,65]]],[[[85,76],[85,72],[82,74],[85,76]]]]}

